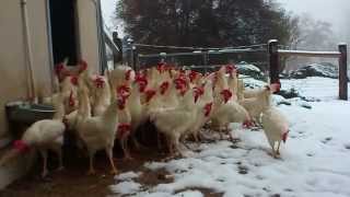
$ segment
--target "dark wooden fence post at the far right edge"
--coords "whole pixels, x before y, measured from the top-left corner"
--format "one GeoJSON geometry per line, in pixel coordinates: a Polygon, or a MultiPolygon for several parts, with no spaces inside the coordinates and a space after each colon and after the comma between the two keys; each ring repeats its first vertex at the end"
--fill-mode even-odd
{"type": "Polygon", "coordinates": [[[348,58],[347,58],[347,44],[338,45],[339,57],[339,99],[348,100],[348,58]]]}

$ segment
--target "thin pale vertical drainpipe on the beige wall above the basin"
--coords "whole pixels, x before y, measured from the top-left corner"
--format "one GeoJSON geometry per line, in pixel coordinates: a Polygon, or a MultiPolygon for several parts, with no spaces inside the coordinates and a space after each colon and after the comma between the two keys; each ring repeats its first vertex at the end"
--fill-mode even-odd
{"type": "Polygon", "coordinates": [[[34,71],[33,71],[33,54],[31,48],[31,35],[30,35],[30,25],[27,20],[27,10],[26,10],[26,0],[21,0],[21,13],[22,13],[22,24],[23,24],[23,39],[24,39],[24,56],[25,63],[27,66],[28,80],[28,99],[31,102],[36,103],[36,90],[35,90],[35,81],[34,81],[34,71]]]}

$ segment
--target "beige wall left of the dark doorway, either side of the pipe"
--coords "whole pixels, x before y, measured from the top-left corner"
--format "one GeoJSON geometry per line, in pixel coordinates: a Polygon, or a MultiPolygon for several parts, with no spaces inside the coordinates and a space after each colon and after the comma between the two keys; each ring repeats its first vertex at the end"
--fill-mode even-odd
{"type": "MultiPolygon", "coordinates": [[[[45,0],[27,1],[36,83],[44,94],[50,93],[50,69],[46,31],[45,0]]],[[[21,4],[2,0],[0,7],[0,138],[7,134],[4,104],[27,95],[27,69],[24,59],[21,4]]]]}

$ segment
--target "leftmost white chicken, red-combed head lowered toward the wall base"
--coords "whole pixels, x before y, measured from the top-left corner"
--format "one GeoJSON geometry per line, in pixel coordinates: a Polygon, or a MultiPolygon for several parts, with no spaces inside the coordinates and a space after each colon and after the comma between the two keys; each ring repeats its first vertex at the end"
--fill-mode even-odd
{"type": "Polygon", "coordinates": [[[52,150],[59,157],[59,170],[63,169],[62,144],[66,126],[63,123],[65,106],[62,95],[56,102],[56,113],[52,119],[43,119],[34,123],[27,128],[20,140],[14,141],[13,149],[10,150],[0,161],[4,165],[15,157],[27,152],[30,149],[37,149],[43,157],[42,177],[48,174],[47,151],[52,150]]]}

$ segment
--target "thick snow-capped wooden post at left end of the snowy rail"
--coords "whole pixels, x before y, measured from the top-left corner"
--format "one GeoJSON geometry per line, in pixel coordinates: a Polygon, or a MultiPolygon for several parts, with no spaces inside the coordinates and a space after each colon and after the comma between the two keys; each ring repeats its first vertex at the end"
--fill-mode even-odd
{"type": "Polygon", "coordinates": [[[279,83],[279,57],[278,57],[278,40],[270,39],[268,43],[269,59],[270,59],[270,83],[279,83]]]}

